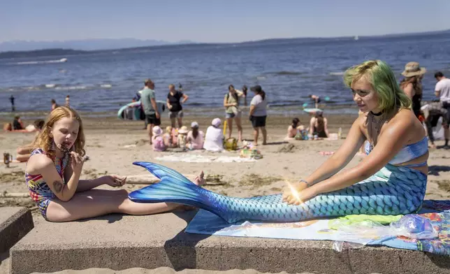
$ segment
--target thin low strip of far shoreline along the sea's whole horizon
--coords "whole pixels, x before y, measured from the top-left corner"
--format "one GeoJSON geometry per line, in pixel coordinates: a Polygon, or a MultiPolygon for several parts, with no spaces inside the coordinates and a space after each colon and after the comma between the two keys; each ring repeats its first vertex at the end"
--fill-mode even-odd
{"type": "MultiPolygon", "coordinates": [[[[358,36],[358,40],[361,39],[377,39],[377,38],[405,38],[407,36],[433,36],[450,34],[450,29],[442,31],[426,31],[426,32],[415,32],[415,33],[405,33],[405,34],[384,34],[376,36],[358,36]]],[[[357,35],[357,34],[355,34],[357,35]]],[[[108,39],[105,39],[108,40],[108,39]]],[[[110,39],[111,41],[120,39],[110,39]]],[[[71,48],[46,48],[38,50],[18,50],[18,51],[3,51],[0,52],[0,59],[8,58],[20,58],[20,57],[46,57],[46,56],[57,56],[57,55],[84,55],[92,53],[101,52],[123,52],[123,51],[133,51],[133,50],[145,50],[145,49],[158,49],[158,48],[179,48],[179,47],[198,47],[198,46],[215,46],[215,45],[252,45],[252,44],[270,44],[270,43],[282,43],[291,41],[303,41],[305,43],[317,43],[317,42],[328,42],[328,41],[351,41],[354,40],[354,36],[336,36],[336,37],[304,37],[304,38],[269,38],[257,41],[244,41],[238,43],[168,43],[164,45],[148,45],[141,47],[129,47],[129,48],[115,48],[107,50],[74,50],[71,48]]],[[[87,40],[88,41],[88,40],[87,40]]]]}

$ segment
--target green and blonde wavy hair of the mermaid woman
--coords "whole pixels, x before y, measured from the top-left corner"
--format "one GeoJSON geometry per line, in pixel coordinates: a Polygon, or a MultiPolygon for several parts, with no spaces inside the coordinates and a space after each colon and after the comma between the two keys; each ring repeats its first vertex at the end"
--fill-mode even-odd
{"type": "Polygon", "coordinates": [[[411,108],[411,99],[400,89],[391,67],[385,62],[366,61],[352,66],[344,73],[344,83],[348,87],[363,78],[368,80],[377,92],[378,106],[384,113],[393,114],[400,108],[411,108]]]}

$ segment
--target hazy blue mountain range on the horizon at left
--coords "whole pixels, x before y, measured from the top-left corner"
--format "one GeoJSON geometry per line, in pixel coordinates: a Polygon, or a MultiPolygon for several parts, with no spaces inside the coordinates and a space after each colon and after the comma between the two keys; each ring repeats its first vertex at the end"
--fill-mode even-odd
{"type": "Polygon", "coordinates": [[[64,48],[71,50],[113,50],[117,48],[148,47],[152,45],[179,45],[195,43],[193,41],[167,42],[160,40],[140,40],[135,38],[84,39],[71,41],[6,41],[0,43],[0,52],[45,50],[64,48]]]}

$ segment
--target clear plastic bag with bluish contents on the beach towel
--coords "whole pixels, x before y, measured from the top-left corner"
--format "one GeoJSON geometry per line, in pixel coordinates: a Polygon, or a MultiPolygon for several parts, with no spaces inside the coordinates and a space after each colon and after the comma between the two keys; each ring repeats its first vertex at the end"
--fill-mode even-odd
{"type": "MultiPolygon", "coordinates": [[[[337,219],[331,225],[336,226],[337,219]]],[[[430,219],[416,214],[402,216],[398,221],[384,226],[379,222],[364,220],[356,223],[337,223],[335,230],[339,231],[345,241],[337,240],[333,243],[333,250],[341,252],[345,248],[360,248],[372,240],[380,238],[404,236],[412,239],[437,238],[437,231],[430,219]]]]}

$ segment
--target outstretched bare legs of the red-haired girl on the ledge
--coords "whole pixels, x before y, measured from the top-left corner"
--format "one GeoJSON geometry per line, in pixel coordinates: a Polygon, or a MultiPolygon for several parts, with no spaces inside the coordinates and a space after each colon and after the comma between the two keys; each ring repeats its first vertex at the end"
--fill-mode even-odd
{"type": "Polygon", "coordinates": [[[175,203],[135,203],[125,189],[91,189],[76,193],[70,201],[50,201],[47,219],[50,222],[70,222],[110,213],[150,215],[173,210],[175,203]]]}

